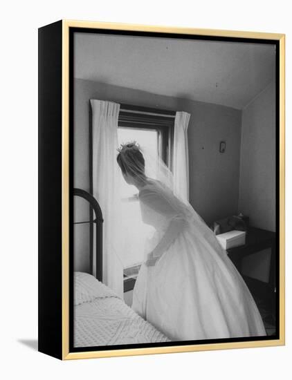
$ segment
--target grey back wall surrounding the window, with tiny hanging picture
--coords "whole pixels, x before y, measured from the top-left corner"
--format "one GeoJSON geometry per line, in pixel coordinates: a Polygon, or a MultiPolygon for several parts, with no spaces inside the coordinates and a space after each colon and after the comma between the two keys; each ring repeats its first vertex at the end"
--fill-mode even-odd
{"type": "MultiPolygon", "coordinates": [[[[190,202],[206,222],[237,213],[241,111],[186,99],[149,94],[131,88],[75,79],[74,186],[89,190],[89,99],[186,111],[190,157],[190,202]],[[226,153],[219,142],[226,140],[226,153]]],[[[86,220],[87,208],[75,202],[75,220],[86,220]]],[[[77,256],[88,251],[89,228],[75,227],[77,256]],[[82,252],[79,255],[78,252],[82,252]]],[[[85,267],[75,260],[75,269],[85,267]]]]}

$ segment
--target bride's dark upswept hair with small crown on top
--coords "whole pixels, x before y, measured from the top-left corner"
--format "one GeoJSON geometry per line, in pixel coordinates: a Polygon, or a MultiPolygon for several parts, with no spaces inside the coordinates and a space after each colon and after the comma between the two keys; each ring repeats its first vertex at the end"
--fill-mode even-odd
{"type": "Polygon", "coordinates": [[[117,162],[123,174],[145,176],[145,160],[136,142],[127,142],[118,149],[117,162]]]}

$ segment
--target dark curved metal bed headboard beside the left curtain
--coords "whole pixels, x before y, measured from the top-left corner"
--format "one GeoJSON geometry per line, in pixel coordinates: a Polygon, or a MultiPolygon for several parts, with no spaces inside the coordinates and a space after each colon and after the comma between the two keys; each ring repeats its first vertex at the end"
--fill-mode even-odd
{"type": "MultiPolygon", "coordinates": [[[[85,220],[84,222],[73,222],[74,225],[81,225],[89,223],[91,225],[91,230],[93,231],[93,225],[95,224],[95,277],[98,281],[102,281],[102,210],[98,201],[87,191],[83,189],[73,189],[73,196],[83,198],[89,202],[89,206],[95,213],[95,219],[90,218],[90,220],[85,220]]],[[[90,244],[89,252],[89,267],[91,274],[93,274],[93,244],[90,244]]]]}

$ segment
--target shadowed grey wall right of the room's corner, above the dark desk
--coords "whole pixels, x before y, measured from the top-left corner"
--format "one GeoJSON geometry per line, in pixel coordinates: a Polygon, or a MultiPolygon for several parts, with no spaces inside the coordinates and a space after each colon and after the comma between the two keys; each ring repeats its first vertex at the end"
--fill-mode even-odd
{"type": "Polygon", "coordinates": [[[239,211],[275,231],[275,82],[242,111],[239,211]]]}

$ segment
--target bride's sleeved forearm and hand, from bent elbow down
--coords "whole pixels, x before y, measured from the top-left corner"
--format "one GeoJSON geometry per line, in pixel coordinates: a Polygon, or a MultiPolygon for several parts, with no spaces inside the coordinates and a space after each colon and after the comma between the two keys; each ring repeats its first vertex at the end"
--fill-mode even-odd
{"type": "Polygon", "coordinates": [[[176,240],[176,238],[181,234],[183,229],[187,226],[185,219],[181,217],[175,217],[170,220],[170,224],[163,235],[161,241],[156,245],[151,254],[148,255],[148,260],[146,261],[147,266],[155,265],[158,258],[161,257],[163,252],[165,252],[170,245],[176,240]]]}

